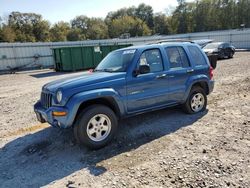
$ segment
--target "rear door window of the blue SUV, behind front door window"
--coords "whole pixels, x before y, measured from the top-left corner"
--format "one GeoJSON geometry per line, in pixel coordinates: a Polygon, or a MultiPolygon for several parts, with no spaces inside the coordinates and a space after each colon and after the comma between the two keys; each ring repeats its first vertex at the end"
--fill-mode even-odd
{"type": "Polygon", "coordinates": [[[166,48],[170,68],[186,68],[190,66],[186,52],[182,47],[166,48]]]}

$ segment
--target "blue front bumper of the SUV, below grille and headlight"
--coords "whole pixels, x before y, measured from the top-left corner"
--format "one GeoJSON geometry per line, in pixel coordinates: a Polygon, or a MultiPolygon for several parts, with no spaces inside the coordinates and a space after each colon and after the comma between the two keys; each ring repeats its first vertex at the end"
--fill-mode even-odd
{"type": "Polygon", "coordinates": [[[65,107],[50,107],[44,108],[40,101],[34,105],[34,111],[36,113],[38,121],[41,123],[48,122],[53,127],[68,128],[68,109],[65,107]],[[67,112],[66,116],[53,116],[52,112],[67,112]]]}

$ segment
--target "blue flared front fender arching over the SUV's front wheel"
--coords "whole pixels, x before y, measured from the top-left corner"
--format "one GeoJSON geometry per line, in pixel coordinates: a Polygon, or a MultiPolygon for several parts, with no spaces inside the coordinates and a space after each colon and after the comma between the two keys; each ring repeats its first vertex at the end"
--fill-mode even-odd
{"type": "Polygon", "coordinates": [[[70,97],[68,100],[67,104],[65,105],[67,109],[69,109],[69,117],[67,119],[67,125],[72,126],[74,119],[76,117],[77,111],[80,107],[80,105],[83,102],[93,100],[93,99],[98,99],[98,98],[105,98],[105,97],[112,97],[114,101],[116,102],[120,113],[124,114],[125,109],[124,109],[124,103],[122,100],[122,97],[117,93],[114,89],[112,88],[105,88],[105,89],[95,89],[95,90],[90,90],[90,91],[84,91],[81,93],[77,93],[70,97]]]}

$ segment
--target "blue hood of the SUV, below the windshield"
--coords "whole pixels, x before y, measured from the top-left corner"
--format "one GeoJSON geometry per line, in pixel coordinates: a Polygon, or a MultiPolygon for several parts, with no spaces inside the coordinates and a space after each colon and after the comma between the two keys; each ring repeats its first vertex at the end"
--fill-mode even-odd
{"type": "MultiPolygon", "coordinates": [[[[59,79],[53,82],[49,82],[43,86],[43,91],[55,93],[58,89],[69,91],[76,90],[77,88],[83,88],[93,85],[95,88],[100,88],[104,82],[112,81],[120,78],[125,78],[126,73],[110,73],[110,72],[93,72],[83,73],[83,75],[68,77],[59,79]]],[[[95,89],[93,88],[93,89],[95,89]]]]}

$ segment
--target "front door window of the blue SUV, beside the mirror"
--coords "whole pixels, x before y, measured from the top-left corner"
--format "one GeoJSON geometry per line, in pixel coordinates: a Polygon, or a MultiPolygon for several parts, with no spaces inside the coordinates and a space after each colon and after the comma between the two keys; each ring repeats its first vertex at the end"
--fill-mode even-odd
{"type": "Polygon", "coordinates": [[[142,53],[139,65],[148,65],[150,72],[159,72],[163,70],[162,58],[158,49],[147,50],[142,53]]]}

